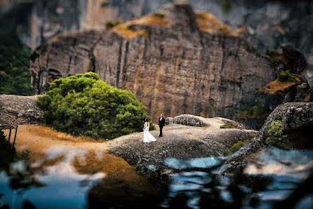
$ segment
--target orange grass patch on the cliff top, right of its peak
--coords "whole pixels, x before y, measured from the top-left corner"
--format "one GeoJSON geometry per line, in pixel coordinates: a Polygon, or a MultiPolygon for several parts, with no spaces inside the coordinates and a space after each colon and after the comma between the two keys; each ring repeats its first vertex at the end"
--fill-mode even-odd
{"type": "Polygon", "coordinates": [[[201,32],[205,32],[208,34],[220,33],[232,36],[238,35],[237,32],[227,27],[227,25],[223,24],[223,22],[218,20],[218,18],[215,18],[214,15],[202,11],[196,13],[196,15],[198,27],[201,32]]]}

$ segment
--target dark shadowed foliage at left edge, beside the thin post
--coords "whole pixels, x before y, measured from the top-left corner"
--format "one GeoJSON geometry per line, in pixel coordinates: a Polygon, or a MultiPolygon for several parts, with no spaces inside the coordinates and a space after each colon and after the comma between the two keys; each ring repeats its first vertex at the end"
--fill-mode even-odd
{"type": "Polygon", "coordinates": [[[6,140],[4,132],[0,130],[0,170],[8,170],[15,156],[15,148],[6,140]]]}

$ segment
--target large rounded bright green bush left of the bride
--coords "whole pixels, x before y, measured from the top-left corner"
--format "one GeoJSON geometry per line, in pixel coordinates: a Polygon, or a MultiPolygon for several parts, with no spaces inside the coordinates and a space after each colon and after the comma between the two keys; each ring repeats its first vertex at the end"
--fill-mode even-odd
{"type": "Polygon", "coordinates": [[[133,93],[109,86],[92,72],[56,79],[37,104],[56,130],[95,139],[142,131],[149,118],[133,93]]]}

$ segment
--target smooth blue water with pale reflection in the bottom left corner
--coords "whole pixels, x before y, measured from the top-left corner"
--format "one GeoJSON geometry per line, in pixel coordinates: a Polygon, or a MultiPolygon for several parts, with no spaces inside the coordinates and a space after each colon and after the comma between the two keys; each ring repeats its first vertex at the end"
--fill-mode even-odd
{"type": "Polygon", "coordinates": [[[16,170],[16,175],[8,176],[4,171],[0,173],[0,194],[4,194],[1,202],[10,208],[22,208],[25,201],[33,203],[36,208],[86,208],[88,190],[105,177],[104,173],[81,175],[65,162],[48,166],[44,174],[31,176],[22,168],[16,169],[18,166],[15,164],[11,165],[15,167],[11,170],[16,170]],[[18,180],[20,174],[24,174],[22,180],[18,180]],[[12,187],[14,184],[20,188],[12,187]]]}

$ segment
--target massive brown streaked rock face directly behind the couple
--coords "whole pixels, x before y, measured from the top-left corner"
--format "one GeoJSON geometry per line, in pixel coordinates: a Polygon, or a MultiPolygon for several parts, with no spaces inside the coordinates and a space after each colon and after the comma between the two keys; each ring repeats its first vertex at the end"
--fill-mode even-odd
{"type": "Polygon", "coordinates": [[[111,30],[60,35],[32,55],[32,85],[88,71],[131,90],[154,118],[195,114],[234,119],[275,79],[271,62],[222,22],[187,4],[166,4],[111,30]],[[159,15],[158,15],[159,14],[159,15]]]}

